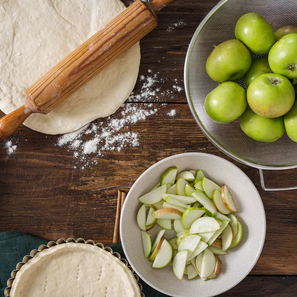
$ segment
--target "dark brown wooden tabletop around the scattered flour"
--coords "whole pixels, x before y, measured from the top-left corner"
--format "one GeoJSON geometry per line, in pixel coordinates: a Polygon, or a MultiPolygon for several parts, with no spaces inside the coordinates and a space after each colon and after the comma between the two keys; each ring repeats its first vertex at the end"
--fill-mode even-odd
{"type": "MultiPolygon", "coordinates": [[[[124,2],[128,5],[132,1],[124,2]]],[[[172,87],[175,79],[182,82],[191,38],[217,2],[177,0],[164,9],[159,26],[141,41],[140,75],[147,76],[148,69],[159,72],[166,78],[159,83],[163,88],[172,87]],[[184,25],[168,30],[177,21],[184,25]]],[[[135,90],[141,86],[138,81],[135,90]]],[[[165,94],[157,100],[152,96],[148,101],[160,110],[131,127],[139,134],[140,145],[105,152],[100,158],[91,154],[90,160],[97,159],[98,164],[90,162],[84,170],[73,168],[77,159],[72,151],[56,145],[59,136],[47,136],[22,126],[10,137],[17,144],[17,151],[11,155],[2,142],[0,232],[19,230],[48,240],[82,237],[111,244],[118,189],[128,191],[149,166],[170,155],[212,153],[233,162],[248,175],[260,193],[267,219],[266,240],[258,262],[243,282],[220,296],[297,296],[297,191],[263,191],[258,170],[227,157],[202,134],[184,92],[165,94]],[[166,116],[171,109],[177,111],[175,117],[166,116]]],[[[141,107],[142,103],[134,104],[141,107]]],[[[91,137],[85,135],[84,140],[91,137]]],[[[268,171],[268,185],[295,185],[296,173],[268,171]]]]}

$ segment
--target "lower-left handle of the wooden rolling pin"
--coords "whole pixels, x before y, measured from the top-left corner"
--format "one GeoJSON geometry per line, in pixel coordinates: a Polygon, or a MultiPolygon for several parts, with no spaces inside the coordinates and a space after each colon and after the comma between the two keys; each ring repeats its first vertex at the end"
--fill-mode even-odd
{"type": "Polygon", "coordinates": [[[3,116],[0,119],[0,140],[13,134],[30,114],[32,111],[23,105],[3,116]]]}

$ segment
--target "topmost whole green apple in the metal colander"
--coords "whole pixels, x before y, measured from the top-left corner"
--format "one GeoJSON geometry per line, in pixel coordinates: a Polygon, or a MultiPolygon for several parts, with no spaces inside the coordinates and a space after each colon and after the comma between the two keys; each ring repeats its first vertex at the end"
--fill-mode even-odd
{"type": "Polygon", "coordinates": [[[256,12],[240,17],[235,27],[235,36],[255,54],[267,53],[276,42],[271,25],[256,12]]]}

